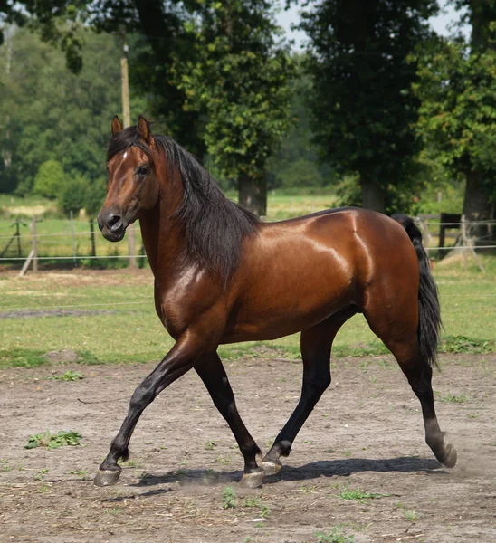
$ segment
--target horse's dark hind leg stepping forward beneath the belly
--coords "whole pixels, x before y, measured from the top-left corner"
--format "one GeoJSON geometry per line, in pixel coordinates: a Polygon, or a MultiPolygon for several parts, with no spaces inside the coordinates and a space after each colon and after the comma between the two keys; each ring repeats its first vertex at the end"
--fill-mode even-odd
{"type": "Polygon", "coordinates": [[[301,332],[303,385],[300,402],[262,460],[263,471],[273,475],[281,471],[281,456],[288,456],[301,426],[309,417],[320,396],[330,385],[330,348],[341,326],[357,313],[355,306],[340,310],[329,319],[301,332]]]}

